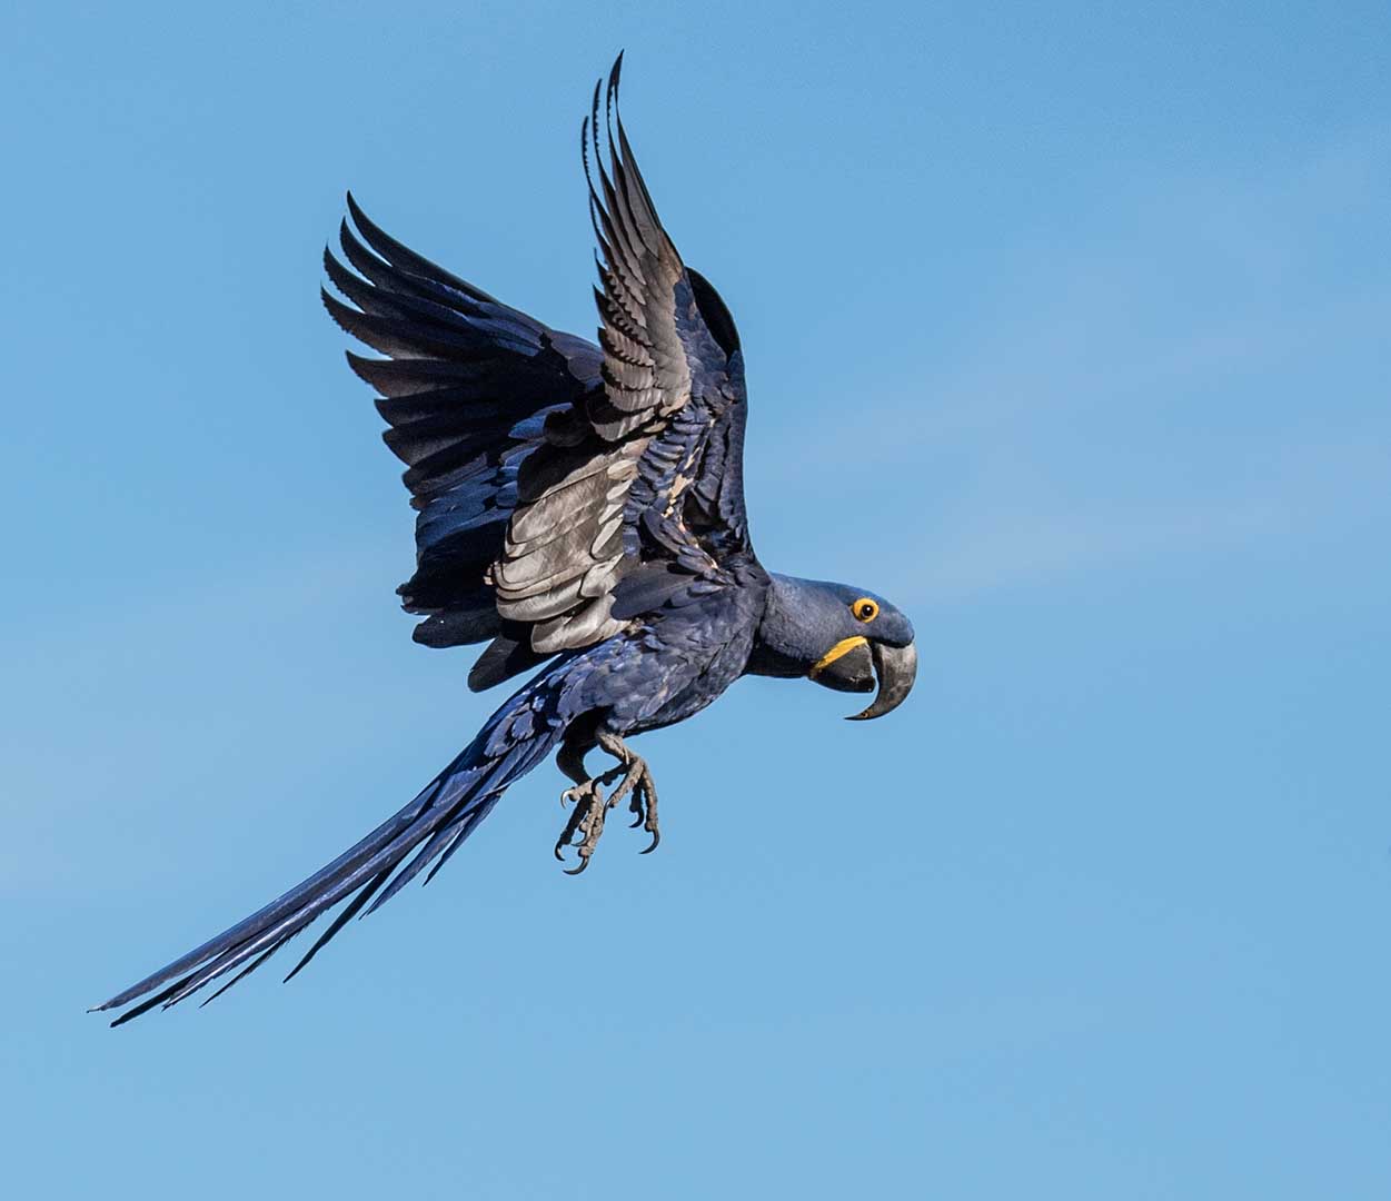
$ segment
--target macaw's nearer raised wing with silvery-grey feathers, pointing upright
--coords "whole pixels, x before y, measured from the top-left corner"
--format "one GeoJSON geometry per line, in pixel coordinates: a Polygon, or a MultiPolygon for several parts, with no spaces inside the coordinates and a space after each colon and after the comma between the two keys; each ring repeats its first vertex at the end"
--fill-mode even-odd
{"type": "Polygon", "coordinates": [[[498,611],[529,623],[541,653],[606,637],[750,552],[739,335],[657,216],[618,113],[620,68],[622,56],[602,132],[600,86],[583,128],[604,387],[556,417],[573,445],[548,443],[523,463],[494,569],[498,611]]]}

